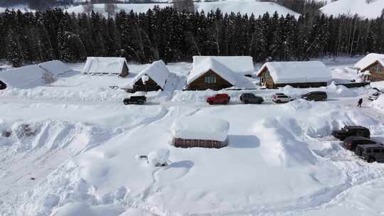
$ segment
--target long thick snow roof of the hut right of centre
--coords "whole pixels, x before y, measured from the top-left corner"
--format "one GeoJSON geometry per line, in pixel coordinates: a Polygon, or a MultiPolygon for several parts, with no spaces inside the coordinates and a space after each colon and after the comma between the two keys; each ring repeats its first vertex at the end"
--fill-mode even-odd
{"type": "Polygon", "coordinates": [[[264,68],[270,71],[275,84],[329,82],[332,78],[329,68],[319,61],[265,63],[257,72],[257,76],[261,75],[264,68]]]}

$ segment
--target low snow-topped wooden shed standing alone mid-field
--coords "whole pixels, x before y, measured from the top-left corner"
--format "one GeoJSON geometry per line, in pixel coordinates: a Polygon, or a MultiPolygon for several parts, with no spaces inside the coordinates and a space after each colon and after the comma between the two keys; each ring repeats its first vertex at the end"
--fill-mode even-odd
{"type": "Polygon", "coordinates": [[[223,119],[182,117],[171,126],[172,144],[179,148],[228,146],[230,124],[223,119]]]}

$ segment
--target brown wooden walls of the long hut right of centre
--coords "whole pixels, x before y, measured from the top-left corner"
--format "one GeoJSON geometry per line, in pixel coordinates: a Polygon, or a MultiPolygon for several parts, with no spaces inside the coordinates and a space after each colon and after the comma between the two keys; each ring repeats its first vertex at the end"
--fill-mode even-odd
{"type": "Polygon", "coordinates": [[[292,86],[297,88],[307,88],[307,87],[322,87],[326,86],[326,82],[289,82],[289,83],[274,83],[273,77],[270,74],[270,70],[267,67],[262,69],[260,76],[260,85],[267,88],[277,88],[284,86],[292,86]]]}

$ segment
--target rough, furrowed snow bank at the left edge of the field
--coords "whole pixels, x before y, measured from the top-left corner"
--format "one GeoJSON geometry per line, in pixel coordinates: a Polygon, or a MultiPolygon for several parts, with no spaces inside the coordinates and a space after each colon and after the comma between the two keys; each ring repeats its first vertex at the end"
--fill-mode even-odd
{"type": "Polygon", "coordinates": [[[100,126],[57,120],[16,121],[2,126],[2,130],[9,131],[11,136],[0,136],[0,146],[12,148],[16,153],[28,153],[38,148],[48,151],[68,148],[79,153],[97,146],[112,134],[100,126]]]}

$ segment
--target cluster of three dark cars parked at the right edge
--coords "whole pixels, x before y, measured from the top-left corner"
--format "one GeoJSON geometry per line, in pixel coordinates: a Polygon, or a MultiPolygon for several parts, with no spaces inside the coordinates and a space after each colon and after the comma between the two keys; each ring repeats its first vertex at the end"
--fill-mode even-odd
{"type": "Polygon", "coordinates": [[[332,131],[332,135],[343,141],[343,147],[354,151],[356,156],[368,163],[384,162],[384,144],[370,139],[370,131],[364,126],[343,126],[332,131]]]}

